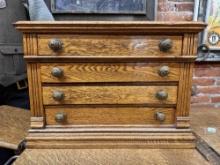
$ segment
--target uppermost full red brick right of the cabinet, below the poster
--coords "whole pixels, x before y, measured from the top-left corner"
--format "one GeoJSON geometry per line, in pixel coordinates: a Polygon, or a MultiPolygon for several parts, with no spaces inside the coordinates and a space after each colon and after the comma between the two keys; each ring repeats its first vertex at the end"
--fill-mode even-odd
{"type": "Polygon", "coordinates": [[[219,77],[220,76],[220,67],[214,68],[196,68],[195,69],[196,77],[219,77]]]}

